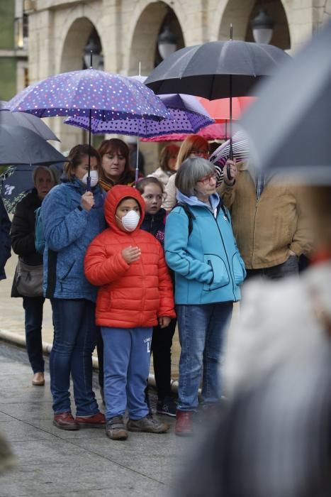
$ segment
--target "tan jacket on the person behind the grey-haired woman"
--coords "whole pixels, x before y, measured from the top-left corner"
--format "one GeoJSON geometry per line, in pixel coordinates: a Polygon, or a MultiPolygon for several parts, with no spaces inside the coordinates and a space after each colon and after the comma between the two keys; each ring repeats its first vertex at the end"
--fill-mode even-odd
{"type": "Polygon", "coordinates": [[[233,232],[247,269],[284,263],[289,250],[297,256],[310,252],[311,231],[300,187],[270,178],[257,200],[254,173],[244,162],[238,164],[234,187],[223,183],[219,193],[232,214],[233,232]]]}

